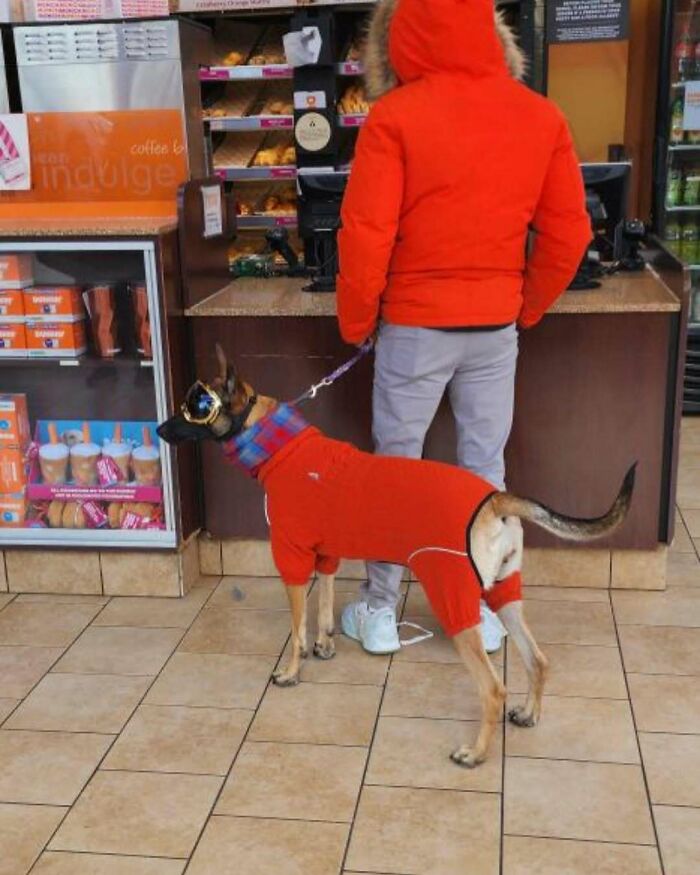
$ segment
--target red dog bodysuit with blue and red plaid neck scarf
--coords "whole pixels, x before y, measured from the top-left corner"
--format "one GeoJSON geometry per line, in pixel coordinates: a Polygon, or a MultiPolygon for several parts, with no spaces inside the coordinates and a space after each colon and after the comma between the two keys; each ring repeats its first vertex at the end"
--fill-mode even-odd
{"type": "Polygon", "coordinates": [[[521,598],[519,572],[485,590],[468,555],[474,518],[495,492],[468,471],[360,452],[285,404],[227,441],[224,454],[265,488],[287,585],[335,573],[340,557],[404,565],[450,636],[479,623],[482,597],[495,611],[521,598]]]}

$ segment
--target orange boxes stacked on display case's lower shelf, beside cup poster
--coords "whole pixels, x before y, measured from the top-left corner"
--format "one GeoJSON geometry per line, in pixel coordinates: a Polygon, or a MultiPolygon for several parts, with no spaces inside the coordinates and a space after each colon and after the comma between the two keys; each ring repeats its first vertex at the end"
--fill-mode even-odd
{"type": "Polygon", "coordinates": [[[3,528],[24,525],[29,443],[27,396],[0,395],[0,527],[3,528]]]}

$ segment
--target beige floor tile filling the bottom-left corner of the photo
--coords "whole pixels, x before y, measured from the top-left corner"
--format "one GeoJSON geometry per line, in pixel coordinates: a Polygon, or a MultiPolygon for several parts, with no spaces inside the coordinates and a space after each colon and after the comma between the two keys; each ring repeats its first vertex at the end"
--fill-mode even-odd
{"type": "Polygon", "coordinates": [[[26,875],[65,813],[48,805],[0,804],[0,875],[26,875]]]}

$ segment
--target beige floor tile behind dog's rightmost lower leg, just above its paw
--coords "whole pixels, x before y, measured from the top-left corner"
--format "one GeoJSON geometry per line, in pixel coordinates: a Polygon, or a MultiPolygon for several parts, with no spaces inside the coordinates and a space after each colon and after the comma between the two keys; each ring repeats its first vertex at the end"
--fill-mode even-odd
{"type": "MultiPolygon", "coordinates": [[[[549,660],[545,691],[553,696],[626,699],[627,688],[617,647],[546,644],[549,660]]],[[[520,656],[508,643],[508,691],[527,691],[527,677],[520,656]]]]}

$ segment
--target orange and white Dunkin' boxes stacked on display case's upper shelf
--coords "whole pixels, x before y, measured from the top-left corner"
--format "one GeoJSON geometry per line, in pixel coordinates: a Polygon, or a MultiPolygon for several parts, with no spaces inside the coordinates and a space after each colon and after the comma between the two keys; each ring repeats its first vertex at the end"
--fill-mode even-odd
{"type": "Polygon", "coordinates": [[[0,257],[0,356],[82,355],[87,343],[81,289],[32,282],[30,255],[0,257]]]}

